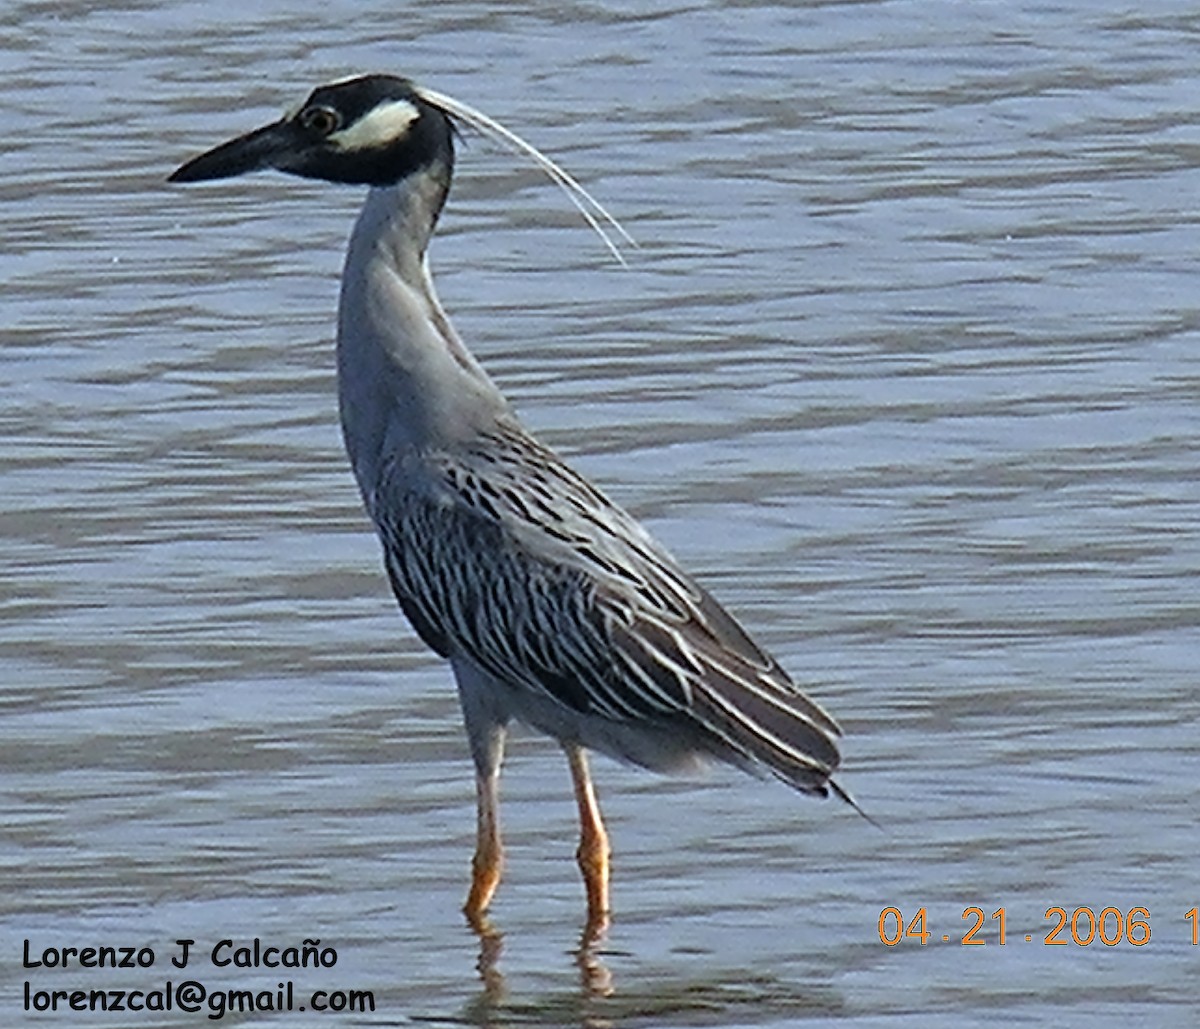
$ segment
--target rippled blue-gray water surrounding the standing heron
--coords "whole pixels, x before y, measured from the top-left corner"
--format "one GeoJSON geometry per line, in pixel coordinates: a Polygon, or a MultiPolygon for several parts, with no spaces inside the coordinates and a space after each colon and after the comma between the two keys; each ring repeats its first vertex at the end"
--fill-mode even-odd
{"type": "Polygon", "coordinates": [[[373,991],[347,1025],[1192,1024],[1198,36],[1078,0],[10,4],[5,1021],[26,980],[178,981],[179,938],[275,989],[208,963],[258,937],[336,947],[287,976],[373,991]],[[464,927],[456,699],[336,427],[359,197],[163,182],[367,68],[508,121],[637,236],[623,271],[472,142],[434,265],[526,421],[844,722],[884,831],[598,759],[617,916],[580,952],[566,770],[526,735],[503,935],[464,927]],[[884,946],[889,907],[929,943],[884,946]],[[1152,935],[1045,945],[1054,907],[1152,935]],[[156,962],[29,970],[26,938],[156,962]]]}

